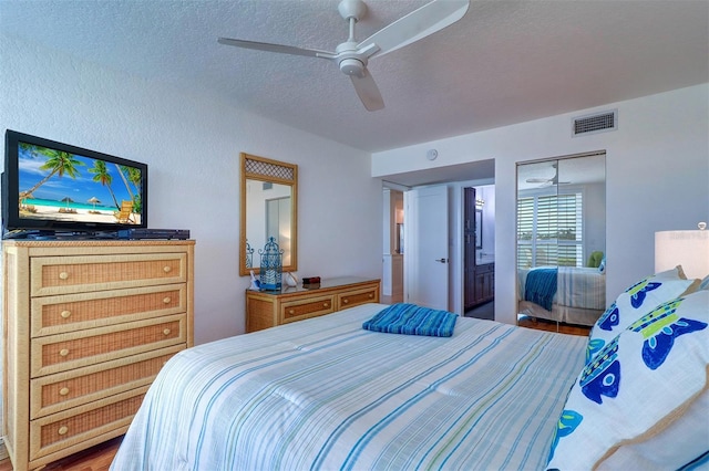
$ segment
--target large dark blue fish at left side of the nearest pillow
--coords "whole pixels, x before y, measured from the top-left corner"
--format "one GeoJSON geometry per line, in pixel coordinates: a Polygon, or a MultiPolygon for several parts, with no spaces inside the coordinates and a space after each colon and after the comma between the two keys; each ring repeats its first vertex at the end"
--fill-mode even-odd
{"type": "Polygon", "coordinates": [[[584,367],[578,385],[584,396],[597,404],[603,404],[602,396],[612,398],[618,396],[620,388],[618,337],[603,347],[598,355],[584,367]]]}

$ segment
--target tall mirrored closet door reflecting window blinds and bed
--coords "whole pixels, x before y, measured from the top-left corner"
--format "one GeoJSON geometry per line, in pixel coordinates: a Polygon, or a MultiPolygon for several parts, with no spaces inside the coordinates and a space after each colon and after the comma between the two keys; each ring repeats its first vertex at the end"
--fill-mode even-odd
{"type": "Polygon", "coordinates": [[[606,308],[606,158],[517,165],[518,318],[590,326],[606,308]]]}

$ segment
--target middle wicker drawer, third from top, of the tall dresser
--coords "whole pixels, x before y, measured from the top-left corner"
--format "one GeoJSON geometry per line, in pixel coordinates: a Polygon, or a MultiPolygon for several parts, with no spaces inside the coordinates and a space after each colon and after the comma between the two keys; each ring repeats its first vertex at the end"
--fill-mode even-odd
{"type": "Polygon", "coordinates": [[[32,378],[95,365],[110,359],[186,344],[186,316],[165,317],[91,328],[32,339],[32,378]]]}

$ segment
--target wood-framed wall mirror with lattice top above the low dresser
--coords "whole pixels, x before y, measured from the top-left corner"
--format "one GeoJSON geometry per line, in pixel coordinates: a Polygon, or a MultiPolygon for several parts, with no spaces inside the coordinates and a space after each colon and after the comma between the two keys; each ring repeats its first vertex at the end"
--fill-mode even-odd
{"type": "Polygon", "coordinates": [[[274,238],[282,270],[298,270],[298,166],[240,154],[239,274],[259,273],[259,250],[274,238]]]}

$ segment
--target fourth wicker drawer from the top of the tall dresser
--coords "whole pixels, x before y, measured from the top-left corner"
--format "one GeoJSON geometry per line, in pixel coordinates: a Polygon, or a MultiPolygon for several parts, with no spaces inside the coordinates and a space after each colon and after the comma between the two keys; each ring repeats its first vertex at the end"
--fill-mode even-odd
{"type": "Polygon", "coordinates": [[[163,365],[182,349],[184,346],[177,345],[32,379],[30,419],[150,385],[163,365]]]}

